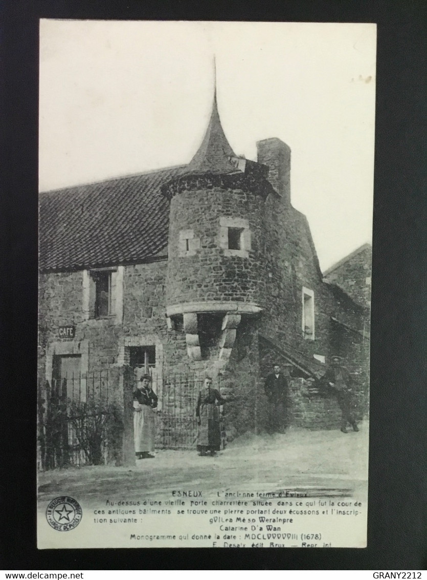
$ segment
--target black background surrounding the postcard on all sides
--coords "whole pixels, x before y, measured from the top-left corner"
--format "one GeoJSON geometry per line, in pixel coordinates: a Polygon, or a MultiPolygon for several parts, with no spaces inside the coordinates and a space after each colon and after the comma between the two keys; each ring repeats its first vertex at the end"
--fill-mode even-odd
{"type": "Polygon", "coordinates": [[[426,545],[427,2],[8,0],[0,8],[0,566],[415,570],[426,545]],[[36,549],[38,19],[378,24],[366,549],[36,549]],[[424,134],[423,134],[424,133],[424,134]]]}

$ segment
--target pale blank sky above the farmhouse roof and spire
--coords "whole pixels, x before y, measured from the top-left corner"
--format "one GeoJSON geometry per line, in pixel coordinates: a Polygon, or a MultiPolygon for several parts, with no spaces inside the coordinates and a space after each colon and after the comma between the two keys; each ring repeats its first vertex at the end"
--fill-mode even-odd
{"type": "Polygon", "coordinates": [[[42,20],[39,190],[188,163],[214,94],[237,155],[279,137],[321,269],[371,242],[374,24],[42,20]]]}

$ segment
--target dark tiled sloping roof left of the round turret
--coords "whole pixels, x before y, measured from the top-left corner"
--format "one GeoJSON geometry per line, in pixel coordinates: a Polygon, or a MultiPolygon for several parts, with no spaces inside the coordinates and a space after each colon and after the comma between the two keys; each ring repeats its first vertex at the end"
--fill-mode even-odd
{"type": "Polygon", "coordinates": [[[41,193],[40,269],[78,270],[156,256],[167,247],[169,227],[169,202],[160,187],[183,169],[41,193]]]}

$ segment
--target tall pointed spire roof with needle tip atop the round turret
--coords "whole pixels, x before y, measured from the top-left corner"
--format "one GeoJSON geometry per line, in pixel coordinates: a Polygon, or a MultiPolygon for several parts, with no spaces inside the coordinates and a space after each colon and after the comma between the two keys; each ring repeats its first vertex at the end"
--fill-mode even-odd
{"type": "Polygon", "coordinates": [[[216,62],[214,56],[214,103],[212,105],[211,119],[205,133],[201,146],[196,155],[190,161],[185,173],[234,173],[235,164],[230,161],[230,157],[237,155],[231,149],[218,113],[218,103],[216,101],[216,62]]]}

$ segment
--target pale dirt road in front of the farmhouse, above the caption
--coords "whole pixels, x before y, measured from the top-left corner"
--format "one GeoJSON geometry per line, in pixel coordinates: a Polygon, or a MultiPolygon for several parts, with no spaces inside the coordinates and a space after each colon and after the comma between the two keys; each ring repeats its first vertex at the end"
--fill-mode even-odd
{"type": "MultiPolygon", "coordinates": [[[[141,498],[171,490],[273,491],[296,487],[366,490],[368,424],[360,432],[289,430],[251,435],[230,443],[215,457],[196,451],[160,450],[135,467],[93,466],[39,474],[41,501],[60,494],[86,502],[106,496],[141,498]]],[[[329,492],[326,492],[326,495],[329,492]]]]}

